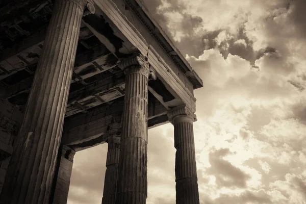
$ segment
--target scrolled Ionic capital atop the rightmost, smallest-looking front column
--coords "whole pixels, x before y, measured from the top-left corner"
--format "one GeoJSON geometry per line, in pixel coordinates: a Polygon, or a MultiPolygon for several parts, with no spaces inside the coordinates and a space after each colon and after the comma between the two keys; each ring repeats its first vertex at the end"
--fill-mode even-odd
{"type": "Polygon", "coordinates": [[[175,107],[168,112],[168,119],[172,124],[177,122],[194,122],[196,121],[196,115],[193,112],[184,106],[175,107]]]}

